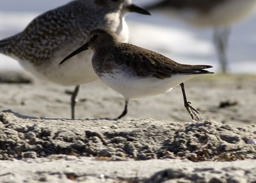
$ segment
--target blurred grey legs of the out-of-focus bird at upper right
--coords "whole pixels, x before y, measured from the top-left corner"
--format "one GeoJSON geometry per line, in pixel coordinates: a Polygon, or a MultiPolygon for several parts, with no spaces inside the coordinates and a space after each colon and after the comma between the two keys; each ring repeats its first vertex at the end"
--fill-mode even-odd
{"type": "Polygon", "coordinates": [[[228,27],[214,29],[214,44],[223,74],[227,73],[227,44],[229,34],[230,28],[228,27]]]}

